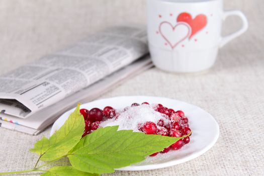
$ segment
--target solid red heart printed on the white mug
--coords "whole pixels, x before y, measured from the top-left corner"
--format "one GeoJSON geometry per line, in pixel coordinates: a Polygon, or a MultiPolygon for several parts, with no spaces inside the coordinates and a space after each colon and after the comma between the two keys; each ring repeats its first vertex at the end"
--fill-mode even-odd
{"type": "Polygon", "coordinates": [[[197,32],[207,25],[207,18],[205,15],[199,14],[193,19],[191,14],[184,12],[177,17],[177,22],[185,22],[191,26],[192,34],[189,37],[189,39],[191,39],[197,32]]]}

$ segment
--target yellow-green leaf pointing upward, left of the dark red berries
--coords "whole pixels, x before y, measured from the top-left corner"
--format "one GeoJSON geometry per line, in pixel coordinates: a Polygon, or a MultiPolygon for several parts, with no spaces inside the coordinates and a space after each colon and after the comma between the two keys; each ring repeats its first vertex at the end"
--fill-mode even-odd
{"type": "Polygon", "coordinates": [[[65,156],[81,139],[84,131],[84,120],[79,113],[80,104],[70,114],[64,125],[49,139],[43,137],[35,143],[31,152],[40,155],[40,160],[52,161],[65,156]]]}

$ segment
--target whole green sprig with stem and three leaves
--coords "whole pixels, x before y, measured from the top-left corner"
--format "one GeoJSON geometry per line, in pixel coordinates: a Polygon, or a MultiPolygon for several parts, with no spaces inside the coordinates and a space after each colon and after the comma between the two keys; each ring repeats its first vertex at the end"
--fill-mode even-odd
{"type": "MultiPolygon", "coordinates": [[[[49,139],[43,137],[35,143],[31,152],[39,158],[32,169],[0,172],[14,174],[41,171],[42,176],[88,175],[111,173],[115,168],[141,162],[146,156],[162,151],[174,142],[186,137],[146,135],[133,130],[120,130],[118,126],[99,128],[81,138],[84,120],[79,113],[80,104],[70,114],[64,125],[49,139]],[[71,165],[60,165],[43,170],[42,167],[67,157],[71,165]],[[39,166],[39,161],[45,161],[39,166]]],[[[190,134],[189,134],[190,135],[190,134]]]]}

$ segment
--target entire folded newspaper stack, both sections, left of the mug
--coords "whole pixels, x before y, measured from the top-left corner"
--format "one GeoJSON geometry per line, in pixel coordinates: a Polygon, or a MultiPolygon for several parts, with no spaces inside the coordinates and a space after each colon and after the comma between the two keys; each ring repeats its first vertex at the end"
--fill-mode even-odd
{"type": "Polygon", "coordinates": [[[78,102],[89,102],[152,66],[143,27],[119,26],[0,77],[0,125],[36,135],[78,102]]]}

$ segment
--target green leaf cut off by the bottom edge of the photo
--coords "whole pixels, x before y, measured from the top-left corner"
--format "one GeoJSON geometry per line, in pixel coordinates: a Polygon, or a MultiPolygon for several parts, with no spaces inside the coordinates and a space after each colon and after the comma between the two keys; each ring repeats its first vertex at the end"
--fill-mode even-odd
{"type": "Polygon", "coordinates": [[[69,165],[52,167],[48,169],[47,172],[41,174],[41,176],[68,176],[68,175],[99,176],[99,174],[96,173],[88,173],[74,169],[72,166],[69,165]]]}

